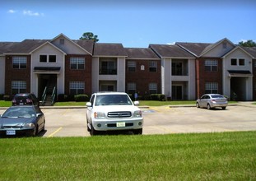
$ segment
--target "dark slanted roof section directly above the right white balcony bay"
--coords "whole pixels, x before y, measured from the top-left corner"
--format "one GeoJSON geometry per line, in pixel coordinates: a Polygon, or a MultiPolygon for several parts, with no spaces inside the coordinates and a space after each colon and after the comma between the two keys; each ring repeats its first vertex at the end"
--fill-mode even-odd
{"type": "Polygon", "coordinates": [[[176,44],[150,44],[149,47],[161,58],[194,58],[191,53],[176,44]]]}

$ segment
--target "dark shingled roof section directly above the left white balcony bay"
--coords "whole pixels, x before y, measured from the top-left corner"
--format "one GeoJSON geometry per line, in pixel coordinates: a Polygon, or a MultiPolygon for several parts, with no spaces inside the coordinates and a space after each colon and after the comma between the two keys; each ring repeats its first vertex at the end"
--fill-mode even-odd
{"type": "Polygon", "coordinates": [[[95,43],[93,55],[99,57],[127,57],[123,44],[95,43]]]}

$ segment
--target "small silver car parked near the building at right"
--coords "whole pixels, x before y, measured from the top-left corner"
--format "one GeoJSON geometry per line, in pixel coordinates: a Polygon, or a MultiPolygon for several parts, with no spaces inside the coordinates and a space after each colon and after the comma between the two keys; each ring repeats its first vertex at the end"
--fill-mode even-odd
{"type": "Polygon", "coordinates": [[[226,109],[228,102],[226,97],[219,94],[206,94],[202,95],[200,99],[197,100],[197,108],[207,108],[212,109],[216,107],[221,107],[226,109]]]}

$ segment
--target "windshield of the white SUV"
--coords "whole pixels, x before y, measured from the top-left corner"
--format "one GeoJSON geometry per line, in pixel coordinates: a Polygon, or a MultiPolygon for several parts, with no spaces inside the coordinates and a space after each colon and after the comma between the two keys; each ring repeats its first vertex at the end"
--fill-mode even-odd
{"type": "Polygon", "coordinates": [[[131,105],[128,95],[97,95],[95,105],[131,105]]]}

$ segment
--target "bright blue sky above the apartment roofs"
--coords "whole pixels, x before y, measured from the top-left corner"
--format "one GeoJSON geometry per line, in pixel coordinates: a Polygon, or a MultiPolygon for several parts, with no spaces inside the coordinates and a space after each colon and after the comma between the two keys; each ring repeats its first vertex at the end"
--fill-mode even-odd
{"type": "Polygon", "coordinates": [[[256,41],[255,0],[0,0],[0,41],[85,32],[126,48],[256,41]]]}

